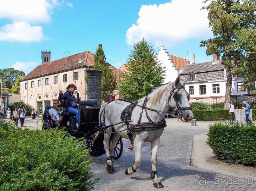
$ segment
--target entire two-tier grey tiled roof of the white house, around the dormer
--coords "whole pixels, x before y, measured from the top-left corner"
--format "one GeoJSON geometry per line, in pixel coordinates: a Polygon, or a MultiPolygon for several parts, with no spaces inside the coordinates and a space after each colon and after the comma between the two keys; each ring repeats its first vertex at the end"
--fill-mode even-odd
{"type": "Polygon", "coordinates": [[[195,73],[195,82],[223,80],[225,78],[224,69],[222,64],[213,62],[187,64],[180,74],[180,80],[184,81],[190,72],[195,73]]]}

